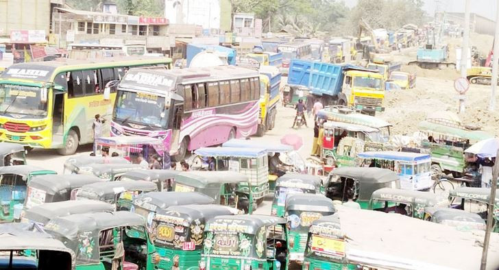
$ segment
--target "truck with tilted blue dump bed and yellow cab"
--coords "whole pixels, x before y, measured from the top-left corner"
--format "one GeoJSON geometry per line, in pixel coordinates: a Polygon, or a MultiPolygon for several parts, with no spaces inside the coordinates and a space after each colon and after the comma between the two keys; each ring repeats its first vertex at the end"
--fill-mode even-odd
{"type": "Polygon", "coordinates": [[[352,106],[372,115],[385,110],[385,79],[362,66],[293,60],[288,84],[306,86],[324,105],[352,106]]]}

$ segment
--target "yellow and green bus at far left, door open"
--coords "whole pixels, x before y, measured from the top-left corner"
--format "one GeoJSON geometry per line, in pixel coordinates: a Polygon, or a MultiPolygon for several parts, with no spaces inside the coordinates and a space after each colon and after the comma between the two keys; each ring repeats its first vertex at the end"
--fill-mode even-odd
{"type": "Polygon", "coordinates": [[[169,69],[170,58],[104,58],[14,64],[0,75],[0,140],[25,147],[59,149],[74,154],[78,145],[93,142],[95,114],[108,120],[110,130],[116,88],[131,67],[169,69]]]}

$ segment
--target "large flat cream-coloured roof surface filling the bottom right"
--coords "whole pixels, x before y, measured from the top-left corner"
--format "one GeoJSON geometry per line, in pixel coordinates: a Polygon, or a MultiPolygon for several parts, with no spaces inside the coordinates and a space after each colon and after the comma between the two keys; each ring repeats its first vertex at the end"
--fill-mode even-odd
{"type": "MultiPolygon", "coordinates": [[[[314,222],[320,229],[338,223],[345,236],[346,259],[352,264],[383,269],[476,269],[480,265],[483,234],[460,232],[402,214],[352,208],[341,208],[314,222]]],[[[312,225],[310,231],[314,230],[312,225]]],[[[487,269],[496,269],[499,235],[491,237],[487,269]]]]}

